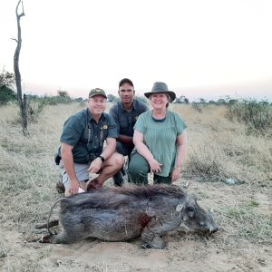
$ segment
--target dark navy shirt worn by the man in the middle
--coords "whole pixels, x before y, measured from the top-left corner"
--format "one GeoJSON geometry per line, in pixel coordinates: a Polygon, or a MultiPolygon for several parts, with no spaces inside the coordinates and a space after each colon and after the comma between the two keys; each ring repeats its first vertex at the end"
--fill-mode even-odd
{"type": "Polygon", "coordinates": [[[132,137],[134,132],[133,127],[139,115],[148,110],[149,109],[144,102],[134,99],[131,112],[126,111],[121,102],[117,102],[112,106],[109,113],[116,122],[118,135],[123,134],[132,137]]]}

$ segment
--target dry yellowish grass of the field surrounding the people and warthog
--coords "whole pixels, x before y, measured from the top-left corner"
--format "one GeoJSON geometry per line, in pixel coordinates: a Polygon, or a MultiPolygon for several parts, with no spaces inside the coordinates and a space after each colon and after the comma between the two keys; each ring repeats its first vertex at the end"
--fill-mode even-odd
{"type": "MultiPolygon", "coordinates": [[[[34,234],[36,223],[46,221],[53,202],[59,198],[54,189],[59,172],[53,155],[59,146],[63,121],[81,109],[79,103],[46,107],[39,121],[29,126],[30,136],[26,138],[16,121],[17,109],[0,108],[0,270],[79,268],[79,263],[67,258],[53,259],[52,246],[29,244],[26,239],[34,234]]],[[[249,258],[262,255],[265,264],[256,258],[259,266],[253,267],[257,271],[263,267],[269,270],[272,263],[271,258],[266,258],[270,254],[266,250],[272,243],[272,141],[247,135],[245,125],[225,118],[224,107],[208,106],[198,112],[190,105],[173,104],[170,109],[180,112],[188,125],[183,179],[189,180],[189,191],[198,195],[203,207],[213,207],[220,231],[207,239],[170,235],[172,248],[168,257],[180,257],[182,243],[204,241],[210,248],[230,256],[234,252],[249,258]],[[235,180],[236,184],[230,186],[226,179],[235,180]],[[248,247],[252,248],[251,253],[246,253],[248,247]]],[[[108,264],[96,261],[88,269],[106,271],[108,264]]],[[[81,267],[78,271],[88,269],[81,267]]]]}

